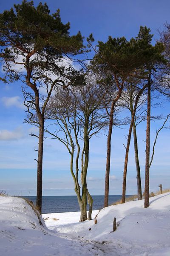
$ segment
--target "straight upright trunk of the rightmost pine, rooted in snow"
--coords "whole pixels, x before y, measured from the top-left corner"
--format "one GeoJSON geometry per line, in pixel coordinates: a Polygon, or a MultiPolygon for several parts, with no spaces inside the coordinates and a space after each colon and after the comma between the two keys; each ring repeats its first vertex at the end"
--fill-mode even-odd
{"type": "Polygon", "coordinates": [[[145,161],[144,208],[149,207],[150,87],[151,87],[151,74],[149,74],[148,79],[147,79],[147,128],[146,128],[146,161],[145,161]]]}

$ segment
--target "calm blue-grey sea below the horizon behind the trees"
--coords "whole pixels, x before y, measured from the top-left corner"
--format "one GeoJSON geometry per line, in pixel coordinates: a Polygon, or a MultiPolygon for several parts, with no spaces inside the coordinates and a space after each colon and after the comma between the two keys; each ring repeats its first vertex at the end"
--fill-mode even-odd
{"type": "MultiPolygon", "coordinates": [[[[93,195],[93,209],[99,210],[103,208],[104,195],[93,195]]],[[[36,204],[36,196],[25,196],[34,204],[36,204]]],[[[113,204],[122,198],[121,195],[110,195],[109,204],[113,204]]],[[[42,196],[42,213],[54,212],[78,212],[79,204],[77,196],[63,195],[63,196],[42,196]]]]}

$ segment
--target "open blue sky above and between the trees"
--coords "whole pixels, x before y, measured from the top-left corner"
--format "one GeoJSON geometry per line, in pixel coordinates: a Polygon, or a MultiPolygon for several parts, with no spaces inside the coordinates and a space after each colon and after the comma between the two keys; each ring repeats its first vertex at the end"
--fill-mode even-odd
{"type": "MultiPolygon", "coordinates": [[[[10,9],[14,3],[21,1],[0,1],[0,12],[10,9]]],[[[34,1],[35,5],[39,1],[34,1]]],[[[44,3],[44,1],[42,1],[44,3]]],[[[158,29],[163,23],[170,23],[170,2],[164,0],[48,0],[51,12],[60,9],[63,23],[71,23],[71,34],[81,31],[85,38],[93,33],[96,41],[106,41],[112,37],[135,37],[139,26],[147,26],[159,38],[158,29]]],[[[21,83],[3,84],[0,82],[0,190],[9,195],[36,195],[37,139],[29,134],[35,128],[24,124],[25,112],[21,83]]],[[[153,114],[169,113],[169,103],[152,110],[153,114]]],[[[156,129],[162,121],[151,124],[151,147],[156,129]]],[[[121,195],[122,175],[126,143],[125,129],[115,128],[112,137],[110,195],[121,195]]],[[[137,128],[139,140],[139,157],[142,172],[142,189],[144,189],[145,157],[145,123],[137,128]]],[[[92,195],[104,194],[105,179],[105,134],[91,140],[91,154],[88,169],[88,188],[92,195]]],[[[133,139],[132,139],[133,142],[133,139]]],[[[170,180],[170,131],[161,131],[156,144],[156,153],[150,169],[150,190],[169,187],[170,180]]],[[[130,147],[127,194],[136,193],[136,169],[133,143],[130,147]]],[[[54,140],[45,140],[43,163],[43,195],[74,195],[74,184],[69,172],[69,154],[65,147],[54,140]]]]}

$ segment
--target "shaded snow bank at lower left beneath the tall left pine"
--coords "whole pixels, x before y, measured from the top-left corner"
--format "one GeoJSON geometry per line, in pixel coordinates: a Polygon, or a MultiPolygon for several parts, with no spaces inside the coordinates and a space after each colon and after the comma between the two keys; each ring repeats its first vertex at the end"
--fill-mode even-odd
{"type": "Polygon", "coordinates": [[[92,244],[60,238],[40,225],[24,199],[0,196],[0,256],[75,255],[101,256],[103,252],[92,244]]]}

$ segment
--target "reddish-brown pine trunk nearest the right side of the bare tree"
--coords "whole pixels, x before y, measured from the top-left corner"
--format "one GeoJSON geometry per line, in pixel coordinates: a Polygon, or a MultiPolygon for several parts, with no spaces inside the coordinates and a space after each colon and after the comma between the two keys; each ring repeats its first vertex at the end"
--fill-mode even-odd
{"type": "Polygon", "coordinates": [[[111,114],[109,119],[109,130],[108,130],[108,140],[107,140],[107,157],[106,157],[106,173],[105,173],[105,199],[104,207],[108,207],[109,202],[109,175],[110,175],[110,164],[111,164],[111,135],[113,129],[113,111],[114,102],[111,105],[111,114]]]}

